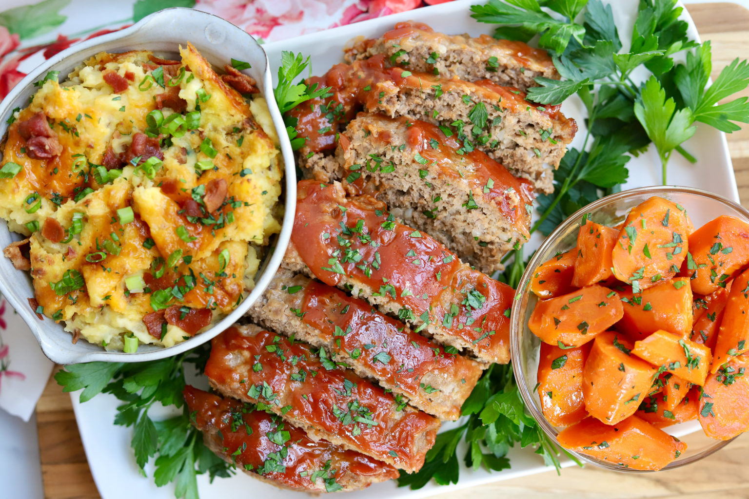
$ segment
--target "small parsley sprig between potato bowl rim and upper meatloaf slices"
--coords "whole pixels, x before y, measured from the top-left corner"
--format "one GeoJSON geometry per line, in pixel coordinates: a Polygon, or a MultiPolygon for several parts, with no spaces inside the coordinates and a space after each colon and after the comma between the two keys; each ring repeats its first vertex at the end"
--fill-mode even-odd
{"type": "Polygon", "coordinates": [[[291,109],[297,107],[302,102],[308,100],[317,99],[318,97],[328,97],[330,87],[318,88],[317,83],[312,85],[306,85],[305,82],[299,82],[294,84],[294,80],[297,79],[306,68],[309,67],[309,56],[305,59],[302,54],[294,54],[294,52],[281,52],[281,66],[279,67],[278,73],[278,85],[273,89],[273,96],[276,97],[276,103],[279,106],[284,117],[284,124],[286,126],[286,133],[291,141],[291,148],[298,150],[304,145],[305,139],[303,137],[297,137],[297,123],[296,117],[289,116],[287,113],[291,109]]]}

